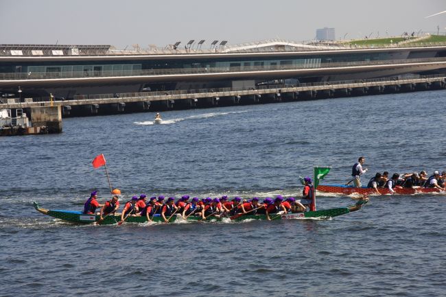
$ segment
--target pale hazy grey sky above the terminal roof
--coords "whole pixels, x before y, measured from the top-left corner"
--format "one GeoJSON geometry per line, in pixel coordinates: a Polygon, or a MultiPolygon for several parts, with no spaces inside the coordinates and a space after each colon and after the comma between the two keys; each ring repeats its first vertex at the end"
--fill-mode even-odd
{"type": "Polygon", "coordinates": [[[0,0],[0,44],[165,46],[191,39],[230,44],[446,32],[445,0],[0,0]],[[387,33],[386,33],[387,32],[387,33]]]}

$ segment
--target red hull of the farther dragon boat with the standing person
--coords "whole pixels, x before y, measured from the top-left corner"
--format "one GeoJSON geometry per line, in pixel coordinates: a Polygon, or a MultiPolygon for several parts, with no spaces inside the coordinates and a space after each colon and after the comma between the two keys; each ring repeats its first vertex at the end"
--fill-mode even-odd
{"type": "MultiPolygon", "coordinates": [[[[325,193],[338,193],[342,195],[351,195],[351,194],[361,194],[361,195],[368,195],[376,193],[374,189],[368,188],[368,187],[353,187],[353,186],[347,186],[347,185],[318,185],[316,188],[318,191],[325,192],[325,193]]],[[[442,191],[436,188],[399,188],[395,187],[393,189],[395,191],[395,194],[400,195],[413,195],[418,193],[441,193],[442,191]]],[[[390,191],[386,188],[378,188],[379,193],[381,195],[388,195],[391,194],[390,191]]]]}

